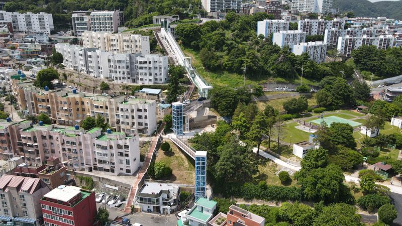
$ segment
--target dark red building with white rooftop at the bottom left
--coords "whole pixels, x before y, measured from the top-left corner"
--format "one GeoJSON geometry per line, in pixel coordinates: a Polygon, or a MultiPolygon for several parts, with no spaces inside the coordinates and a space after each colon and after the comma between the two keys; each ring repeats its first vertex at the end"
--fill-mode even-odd
{"type": "Polygon", "coordinates": [[[95,192],[61,186],[40,199],[45,226],[95,225],[95,192]]]}

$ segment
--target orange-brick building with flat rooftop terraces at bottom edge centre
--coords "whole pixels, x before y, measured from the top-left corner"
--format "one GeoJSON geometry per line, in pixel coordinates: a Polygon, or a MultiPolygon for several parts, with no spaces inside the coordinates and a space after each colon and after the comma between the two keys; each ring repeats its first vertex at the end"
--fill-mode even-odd
{"type": "Polygon", "coordinates": [[[209,223],[212,226],[264,226],[265,219],[236,205],[231,205],[227,214],[220,212],[209,223]]]}

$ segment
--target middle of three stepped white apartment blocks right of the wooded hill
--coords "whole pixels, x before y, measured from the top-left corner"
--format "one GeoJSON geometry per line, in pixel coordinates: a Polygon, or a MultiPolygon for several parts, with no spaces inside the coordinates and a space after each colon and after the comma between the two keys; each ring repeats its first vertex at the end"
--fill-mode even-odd
{"type": "Polygon", "coordinates": [[[289,46],[291,49],[294,45],[306,41],[306,32],[302,31],[279,31],[273,33],[272,43],[280,48],[289,46]]]}

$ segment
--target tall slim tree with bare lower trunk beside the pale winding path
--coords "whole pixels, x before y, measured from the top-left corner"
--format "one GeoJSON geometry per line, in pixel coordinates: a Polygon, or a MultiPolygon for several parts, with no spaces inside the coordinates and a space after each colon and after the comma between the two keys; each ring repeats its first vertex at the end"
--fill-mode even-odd
{"type": "Polygon", "coordinates": [[[260,112],[257,117],[255,117],[253,124],[247,133],[247,138],[257,143],[257,155],[260,152],[262,140],[267,134],[267,129],[267,118],[262,112],[260,112]]]}

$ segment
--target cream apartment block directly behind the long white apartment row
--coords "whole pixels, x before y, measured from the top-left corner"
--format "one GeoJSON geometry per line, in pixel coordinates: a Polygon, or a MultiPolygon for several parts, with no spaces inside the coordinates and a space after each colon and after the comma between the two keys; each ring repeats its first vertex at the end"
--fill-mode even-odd
{"type": "Polygon", "coordinates": [[[141,53],[150,54],[149,36],[130,33],[93,32],[82,34],[82,46],[98,48],[112,53],[141,53]]]}

